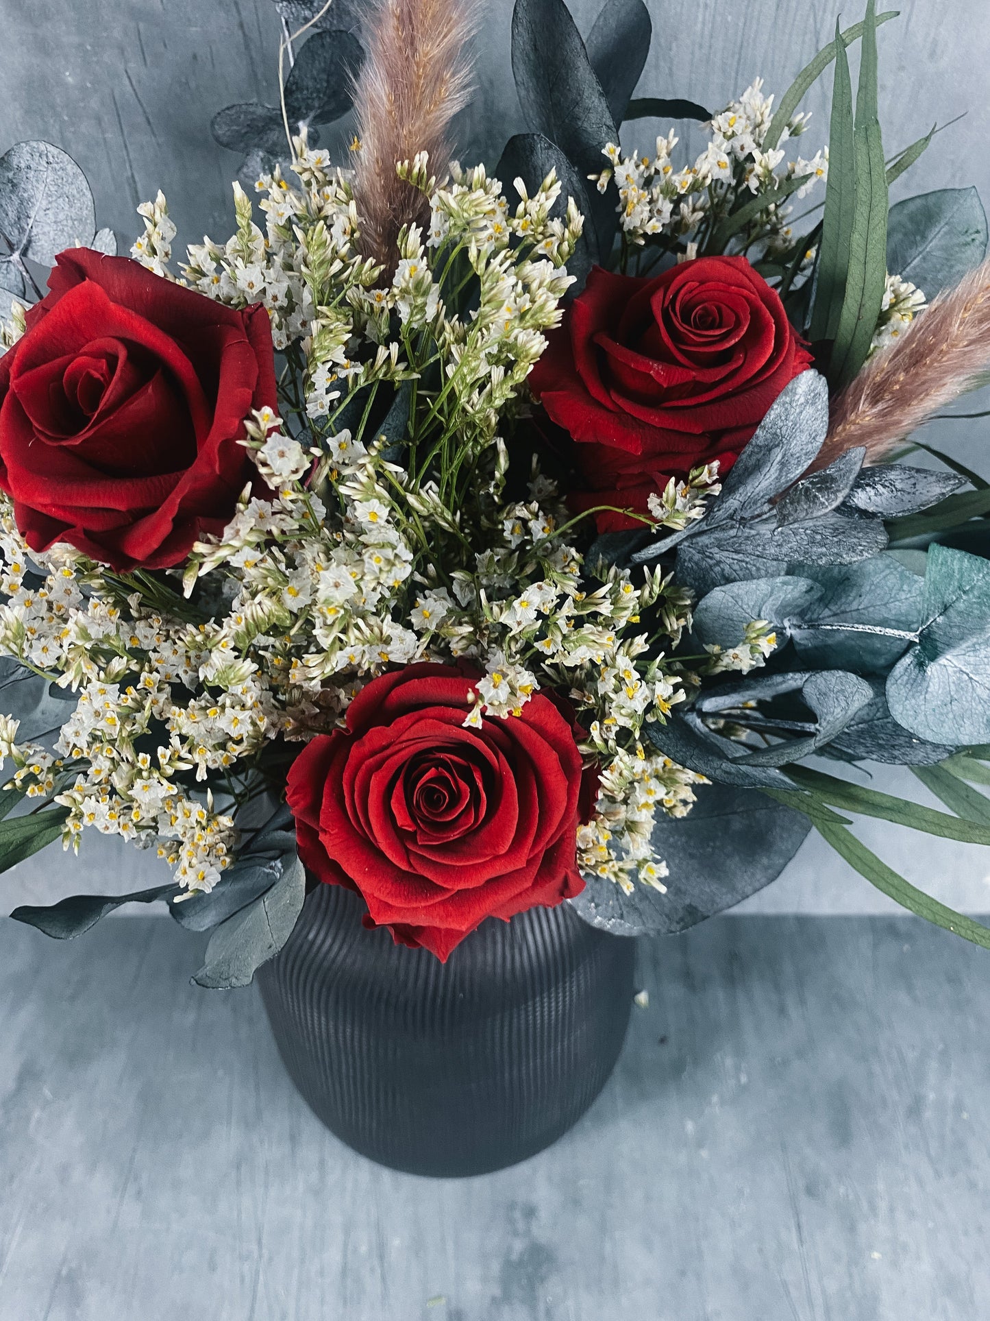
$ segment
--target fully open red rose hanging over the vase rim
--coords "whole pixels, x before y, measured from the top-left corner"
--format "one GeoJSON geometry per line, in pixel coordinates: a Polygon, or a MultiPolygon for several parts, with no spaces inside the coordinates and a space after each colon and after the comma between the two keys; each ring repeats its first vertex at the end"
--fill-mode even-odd
{"type": "Polygon", "coordinates": [[[289,771],[309,871],[359,890],[367,925],[444,960],[486,917],[583,889],[573,725],[537,692],[521,715],[466,728],[471,684],[457,666],[381,675],[347,731],[314,738],[289,771]]]}

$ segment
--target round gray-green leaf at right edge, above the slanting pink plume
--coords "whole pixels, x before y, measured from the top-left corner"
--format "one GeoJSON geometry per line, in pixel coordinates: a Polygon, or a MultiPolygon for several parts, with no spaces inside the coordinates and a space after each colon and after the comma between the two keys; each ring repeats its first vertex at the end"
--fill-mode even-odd
{"type": "Polygon", "coordinates": [[[896,202],[887,222],[887,269],[931,303],[986,256],[987,227],[975,188],[942,188],[896,202]]]}

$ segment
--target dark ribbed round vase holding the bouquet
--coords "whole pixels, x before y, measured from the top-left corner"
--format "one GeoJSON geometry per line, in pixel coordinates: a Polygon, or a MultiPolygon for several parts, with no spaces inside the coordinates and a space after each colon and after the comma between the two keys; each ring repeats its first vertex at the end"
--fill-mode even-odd
{"type": "Polygon", "coordinates": [[[416,1174],[482,1174],[556,1141],[605,1086],[628,1024],[635,942],[568,904],[488,918],[441,963],[308,896],[257,979],[285,1067],[350,1147],[416,1174]]]}

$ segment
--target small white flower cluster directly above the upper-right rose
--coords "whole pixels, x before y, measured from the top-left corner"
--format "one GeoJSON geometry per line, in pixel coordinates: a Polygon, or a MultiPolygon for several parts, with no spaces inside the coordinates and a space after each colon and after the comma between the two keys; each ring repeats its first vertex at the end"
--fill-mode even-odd
{"type": "Polygon", "coordinates": [[[828,149],[805,160],[797,156],[785,161],[780,144],[797,137],[807,128],[808,115],[796,114],[780,135],[779,144],[764,151],[764,139],[772,119],[772,96],[763,95],[763,79],[756,78],[721,114],[702,124],[709,135],[693,164],[675,168],[673,149],[678,139],[671,129],[656,139],[653,156],[634,152],[627,156],[610,143],[605,155],[610,164],[595,176],[598,190],[606,193],[614,181],[619,193],[616,211],[626,243],[642,247],[649,239],[677,240],[709,236],[717,222],[733,210],[741,194],[767,196],[767,206],[752,226],[734,239],[735,250],[759,239],[766,250],[776,252],[791,246],[793,235],[787,225],[791,207],[774,201],[780,184],[803,178],[797,197],[804,197],[818,181],[828,178],[828,149]],[[781,170],[780,166],[784,165],[781,170]]]}

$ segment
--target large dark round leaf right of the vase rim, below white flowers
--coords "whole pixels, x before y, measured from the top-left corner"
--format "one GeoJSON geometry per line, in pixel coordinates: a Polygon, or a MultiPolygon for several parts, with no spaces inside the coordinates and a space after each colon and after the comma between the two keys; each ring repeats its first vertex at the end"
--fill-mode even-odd
{"type": "Polygon", "coordinates": [[[776,880],[808,835],[800,812],[751,789],[701,785],[682,818],[657,812],[652,848],[669,875],[667,893],[638,884],[631,894],[589,878],[570,902],[591,926],[615,935],[684,931],[776,880]]]}

